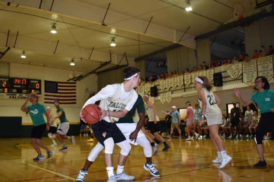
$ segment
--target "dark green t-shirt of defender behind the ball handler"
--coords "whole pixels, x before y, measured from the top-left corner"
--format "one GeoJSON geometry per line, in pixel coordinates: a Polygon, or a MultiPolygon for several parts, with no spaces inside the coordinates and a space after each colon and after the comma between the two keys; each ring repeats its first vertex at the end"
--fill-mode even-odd
{"type": "Polygon", "coordinates": [[[138,113],[146,113],[143,98],[139,94],[132,109],[123,118],[120,118],[116,123],[134,123],[132,116],[135,114],[136,108],[138,113]]]}

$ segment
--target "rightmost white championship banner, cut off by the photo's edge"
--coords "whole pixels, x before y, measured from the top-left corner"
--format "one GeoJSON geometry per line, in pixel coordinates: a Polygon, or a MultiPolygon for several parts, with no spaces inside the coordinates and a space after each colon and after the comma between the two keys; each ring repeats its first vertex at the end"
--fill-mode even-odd
{"type": "Polygon", "coordinates": [[[264,76],[268,81],[273,78],[273,57],[257,58],[258,76],[264,76]]]}

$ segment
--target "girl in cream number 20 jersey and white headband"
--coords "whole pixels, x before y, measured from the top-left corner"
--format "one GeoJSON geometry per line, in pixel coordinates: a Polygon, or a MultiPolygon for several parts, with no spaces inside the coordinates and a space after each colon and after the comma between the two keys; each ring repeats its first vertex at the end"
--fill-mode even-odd
{"type": "Polygon", "coordinates": [[[232,157],[227,155],[223,140],[218,134],[220,124],[222,124],[222,113],[218,107],[221,99],[213,92],[211,92],[211,84],[206,77],[198,76],[195,78],[195,87],[198,89],[198,100],[202,108],[202,116],[200,119],[200,126],[206,116],[207,125],[209,128],[209,135],[217,150],[218,157],[213,160],[213,163],[221,163],[219,169],[223,169],[227,163],[232,160],[232,157]]]}

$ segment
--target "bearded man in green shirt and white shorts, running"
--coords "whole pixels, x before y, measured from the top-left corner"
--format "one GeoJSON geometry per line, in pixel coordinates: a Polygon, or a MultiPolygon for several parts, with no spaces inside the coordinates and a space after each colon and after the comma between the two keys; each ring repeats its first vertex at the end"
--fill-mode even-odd
{"type": "Polygon", "coordinates": [[[56,137],[59,139],[59,141],[63,145],[63,147],[61,149],[59,149],[59,151],[64,151],[64,150],[68,150],[68,147],[66,146],[66,144],[64,142],[64,139],[69,139],[72,142],[72,145],[75,145],[75,138],[74,138],[74,136],[66,136],[66,134],[68,133],[68,129],[69,129],[69,123],[66,118],[65,111],[63,110],[63,108],[61,108],[59,106],[59,104],[60,103],[58,100],[54,101],[54,106],[57,109],[57,111],[56,111],[57,116],[54,117],[54,119],[59,118],[59,120],[60,120],[60,124],[57,129],[56,137]]]}

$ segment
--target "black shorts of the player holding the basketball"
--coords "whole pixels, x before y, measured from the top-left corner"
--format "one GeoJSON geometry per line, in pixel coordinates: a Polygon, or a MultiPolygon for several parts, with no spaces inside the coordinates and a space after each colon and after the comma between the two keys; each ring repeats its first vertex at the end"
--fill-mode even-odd
{"type": "Polygon", "coordinates": [[[104,141],[111,137],[113,138],[114,143],[126,140],[116,123],[108,123],[105,120],[101,120],[98,123],[92,124],[92,130],[98,142],[103,146],[105,146],[104,141]]]}

